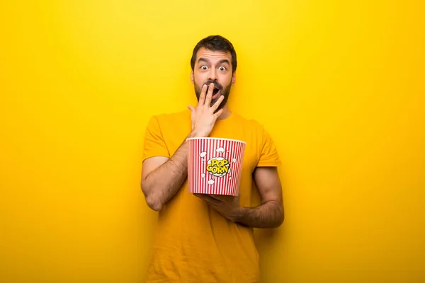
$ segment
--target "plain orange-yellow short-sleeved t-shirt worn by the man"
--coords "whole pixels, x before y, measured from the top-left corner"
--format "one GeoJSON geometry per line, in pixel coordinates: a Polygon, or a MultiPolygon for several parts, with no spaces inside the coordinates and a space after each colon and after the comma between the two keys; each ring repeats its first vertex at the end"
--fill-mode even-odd
{"type": "MultiPolygon", "coordinates": [[[[143,160],[171,157],[191,132],[191,112],[156,115],[149,120],[143,160]]],[[[239,185],[240,205],[251,207],[256,166],[279,166],[268,132],[256,121],[232,113],[217,120],[210,137],[246,142],[239,185]]],[[[159,211],[146,282],[259,282],[259,255],[253,229],[229,221],[188,192],[187,178],[159,211]]]]}

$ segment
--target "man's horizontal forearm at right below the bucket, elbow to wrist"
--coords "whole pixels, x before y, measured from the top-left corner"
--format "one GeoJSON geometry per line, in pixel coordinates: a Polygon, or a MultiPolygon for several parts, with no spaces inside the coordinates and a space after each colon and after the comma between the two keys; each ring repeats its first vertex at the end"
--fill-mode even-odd
{"type": "Polygon", "coordinates": [[[276,228],[283,218],[283,205],[271,200],[258,207],[242,207],[232,220],[254,228],[276,228]]]}

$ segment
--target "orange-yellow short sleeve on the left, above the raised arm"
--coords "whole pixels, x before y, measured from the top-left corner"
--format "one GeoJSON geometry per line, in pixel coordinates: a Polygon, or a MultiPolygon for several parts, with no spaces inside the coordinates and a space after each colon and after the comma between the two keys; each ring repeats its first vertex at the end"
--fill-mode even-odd
{"type": "Polygon", "coordinates": [[[146,127],[142,161],[154,156],[170,157],[169,150],[162,136],[158,118],[155,116],[150,118],[146,127]]]}

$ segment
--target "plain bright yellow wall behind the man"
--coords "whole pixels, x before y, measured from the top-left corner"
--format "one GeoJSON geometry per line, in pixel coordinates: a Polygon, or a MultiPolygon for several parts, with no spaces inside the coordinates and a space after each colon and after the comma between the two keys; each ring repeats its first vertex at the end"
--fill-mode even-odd
{"type": "Polygon", "coordinates": [[[195,105],[212,34],[283,161],[263,282],[425,282],[421,3],[1,1],[0,282],[142,282],[145,126],[195,105]]]}

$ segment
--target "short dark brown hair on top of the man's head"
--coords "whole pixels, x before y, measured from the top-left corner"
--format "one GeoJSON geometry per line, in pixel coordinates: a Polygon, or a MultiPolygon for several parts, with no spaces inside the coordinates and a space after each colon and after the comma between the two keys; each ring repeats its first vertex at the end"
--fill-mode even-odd
{"type": "Polygon", "coordinates": [[[232,55],[232,73],[236,71],[236,67],[237,67],[236,51],[234,51],[232,43],[229,42],[229,40],[227,40],[225,37],[222,37],[221,35],[210,35],[200,40],[200,42],[198,42],[198,44],[193,49],[193,54],[191,59],[192,71],[195,68],[196,53],[198,53],[198,50],[200,50],[201,47],[204,47],[212,51],[230,52],[230,54],[232,55]]]}

